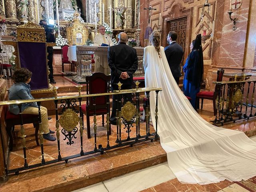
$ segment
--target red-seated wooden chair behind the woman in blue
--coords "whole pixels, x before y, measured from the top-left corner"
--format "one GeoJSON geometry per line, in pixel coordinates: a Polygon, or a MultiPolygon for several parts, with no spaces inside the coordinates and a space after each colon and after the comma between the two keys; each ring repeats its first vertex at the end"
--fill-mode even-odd
{"type": "MultiPolygon", "coordinates": [[[[224,74],[224,69],[221,68],[217,72],[217,79],[216,81],[222,81],[224,74]]],[[[213,112],[214,115],[217,115],[217,110],[216,110],[216,98],[218,95],[218,85],[215,86],[214,91],[200,91],[198,94],[196,94],[196,106],[199,106],[199,100],[202,99],[201,101],[201,109],[203,109],[203,102],[204,99],[212,100],[213,102],[213,112]]]]}

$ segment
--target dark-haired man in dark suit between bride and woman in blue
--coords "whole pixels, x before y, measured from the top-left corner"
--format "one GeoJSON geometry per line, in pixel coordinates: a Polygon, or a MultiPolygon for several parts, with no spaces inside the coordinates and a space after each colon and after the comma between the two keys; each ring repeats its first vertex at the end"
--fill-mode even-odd
{"type": "Polygon", "coordinates": [[[170,66],[172,76],[174,77],[175,81],[179,85],[180,80],[180,63],[183,57],[183,49],[182,47],[176,43],[177,34],[175,31],[169,32],[167,36],[168,46],[164,48],[164,53],[166,55],[168,64],[170,66]]]}

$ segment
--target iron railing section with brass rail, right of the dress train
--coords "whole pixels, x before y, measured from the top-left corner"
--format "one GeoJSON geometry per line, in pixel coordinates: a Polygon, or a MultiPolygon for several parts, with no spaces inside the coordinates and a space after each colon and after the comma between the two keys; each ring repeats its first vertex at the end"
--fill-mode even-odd
{"type": "Polygon", "coordinates": [[[214,82],[216,89],[217,115],[214,125],[223,125],[256,116],[254,111],[256,80],[214,82]]]}

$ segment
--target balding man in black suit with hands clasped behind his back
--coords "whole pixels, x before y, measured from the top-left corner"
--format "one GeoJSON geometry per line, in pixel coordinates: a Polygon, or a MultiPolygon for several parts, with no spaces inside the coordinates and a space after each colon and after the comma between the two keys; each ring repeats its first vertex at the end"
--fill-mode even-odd
{"type": "MultiPolygon", "coordinates": [[[[126,45],[127,34],[121,32],[118,35],[118,45],[108,48],[108,66],[111,69],[111,90],[118,90],[118,82],[122,83],[122,89],[131,89],[133,84],[132,74],[138,68],[138,56],[136,49],[126,45]]],[[[112,97],[112,113],[110,123],[116,124],[116,109],[120,95],[112,97]]],[[[130,100],[130,99],[128,99],[130,100]]]]}

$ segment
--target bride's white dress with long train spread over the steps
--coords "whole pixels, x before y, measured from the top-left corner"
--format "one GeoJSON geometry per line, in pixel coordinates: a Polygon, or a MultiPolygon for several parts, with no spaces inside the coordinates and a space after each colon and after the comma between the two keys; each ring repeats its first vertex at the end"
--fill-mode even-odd
{"type": "MultiPolygon", "coordinates": [[[[168,164],[182,183],[209,184],[247,180],[256,175],[256,142],[243,132],[213,126],[193,109],[177,86],[164,48],[144,48],[146,87],[161,87],[158,95],[158,134],[168,164]]],[[[155,127],[156,93],[150,92],[155,127]]]]}

